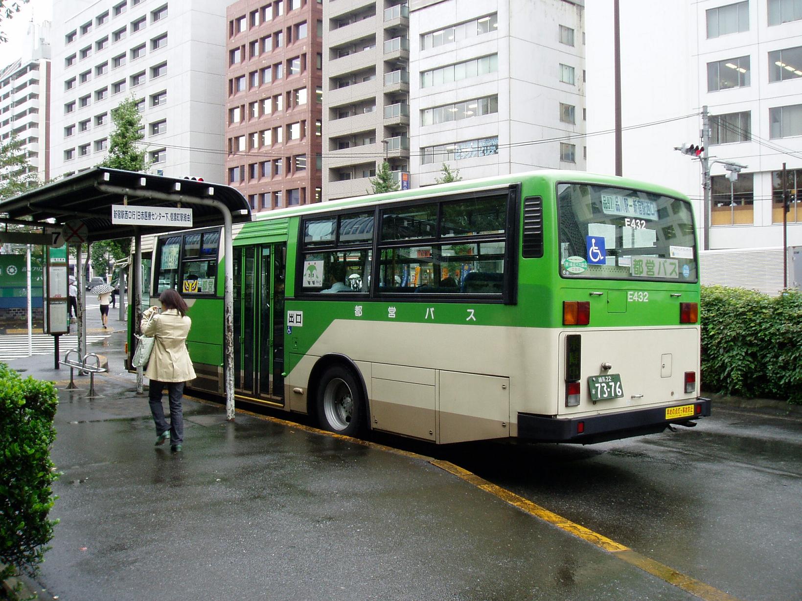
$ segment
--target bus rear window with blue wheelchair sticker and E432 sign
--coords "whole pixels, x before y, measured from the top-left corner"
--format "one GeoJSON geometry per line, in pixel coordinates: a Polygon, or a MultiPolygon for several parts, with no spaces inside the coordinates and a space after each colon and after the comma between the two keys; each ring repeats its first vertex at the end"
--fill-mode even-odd
{"type": "Polygon", "coordinates": [[[560,274],[695,283],[691,204],[640,190],[557,184],[560,274]]]}

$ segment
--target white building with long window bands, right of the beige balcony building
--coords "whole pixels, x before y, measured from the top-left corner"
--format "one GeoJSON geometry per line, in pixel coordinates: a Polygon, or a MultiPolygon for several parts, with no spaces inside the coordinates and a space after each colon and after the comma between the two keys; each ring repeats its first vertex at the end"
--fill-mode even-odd
{"type": "Polygon", "coordinates": [[[585,169],[584,2],[412,0],[410,168],[585,169]]]}

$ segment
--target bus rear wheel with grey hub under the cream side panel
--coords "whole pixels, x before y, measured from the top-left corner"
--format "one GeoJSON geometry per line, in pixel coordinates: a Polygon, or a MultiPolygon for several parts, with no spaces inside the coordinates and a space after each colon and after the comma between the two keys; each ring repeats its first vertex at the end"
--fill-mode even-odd
{"type": "Polygon", "coordinates": [[[353,436],[362,422],[363,399],[350,370],[332,365],[318,386],[318,422],[323,430],[353,436]]]}

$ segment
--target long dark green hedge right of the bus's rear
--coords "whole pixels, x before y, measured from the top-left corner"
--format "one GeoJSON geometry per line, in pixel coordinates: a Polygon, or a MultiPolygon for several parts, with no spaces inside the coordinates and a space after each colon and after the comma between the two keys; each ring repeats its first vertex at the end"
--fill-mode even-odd
{"type": "Polygon", "coordinates": [[[700,321],[705,389],[802,403],[802,293],[703,286],[700,321]]]}

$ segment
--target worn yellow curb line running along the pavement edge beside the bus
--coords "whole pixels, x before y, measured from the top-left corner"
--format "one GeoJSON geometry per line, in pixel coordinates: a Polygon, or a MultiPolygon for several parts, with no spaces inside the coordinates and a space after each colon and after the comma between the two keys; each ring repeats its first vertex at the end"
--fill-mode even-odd
{"type": "MultiPolygon", "coordinates": [[[[186,395],[185,397],[192,399],[192,401],[203,403],[205,405],[213,405],[217,407],[220,406],[219,403],[213,401],[206,401],[205,399],[202,398],[189,397],[186,395]]],[[[275,424],[288,426],[290,428],[294,428],[295,430],[302,430],[304,432],[310,432],[312,434],[324,434],[326,436],[330,436],[331,438],[338,438],[339,440],[342,441],[352,442],[356,445],[367,446],[368,448],[371,449],[383,450],[395,455],[401,455],[403,457],[413,458],[413,459],[420,459],[425,462],[431,463],[432,466],[439,467],[441,470],[445,470],[449,474],[453,474],[457,478],[463,479],[465,482],[468,482],[469,484],[472,484],[473,486],[476,486],[477,488],[480,488],[481,490],[484,490],[485,492],[490,493],[496,496],[497,498],[500,498],[502,501],[517,507],[521,511],[524,511],[525,513],[530,514],[535,518],[539,518],[544,522],[548,522],[553,526],[557,526],[557,528],[565,530],[565,532],[573,534],[573,536],[581,538],[585,542],[590,543],[596,547],[599,547],[603,551],[608,551],[611,554],[613,554],[614,557],[621,559],[622,561],[629,563],[634,567],[638,567],[642,571],[645,571],[651,575],[657,576],[658,579],[661,579],[666,583],[674,585],[674,587],[681,588],[683,589],[683,591],[687,591],[691,593],[691,595],[699,597],[699,599],[704,599],[704,601],[740,601],[737,597],[728,595],[724,591],[719,591],[719,589],[711,587],[709,584],[703,583],[701,580],[691,578],[691,576],[685,575],[682,572],[678,572],[674,570],[674,568],[659,563],[654,559],[650,559],[645,555],[641,555],[637,551],[632,551],[629,547],[626,547],[620,543],[616,543],[614,540],[611,540],[610,538],[607,538],[602,534],[593,532],[593,530],[589,530],[588,528],[585,528],[585,526],[580,526],[577,523],[571,522],[569,519],[563,518],[560,515],[555,514],[553,511],[549,511],[545,509],[545,507],[541,507],[537,505],[537,503],[533,503],[529,501],[529,499],[523,498],[520,495],[513,493],[511,490],[506,490],[504,488],[501,488],[500,486],[496,486],[492,482],[488,482],[484,478],[480,478],[476,474],[473,474],[472,472],[465,470],[460,466],[454,465],[452,462],[442,461],[440,459],[427,457],[426,455],[421,455],[418,453],[412,453],[411,451],[394,449],[391,446],[379,445],[376,442],[363,441],[359,440],[358,438],[343,436],[342,434],[336,434],[334,432],[329,432],[327,430],[320,430],[319,428],[314,428],[312,426],[305,426],[303,424],[298,424],[295,422],[288,422],[287,420],[281,419],[280,417],[260,415],[259,413],[253,413],[253,411],[248,411],[247,409],[237,408],[236,411],[237,413],[243,413],[244,415],[249,415],[251,417],[256,417],[257,419],[264,420],[265,422],[273,422],[275,424]]]]}

